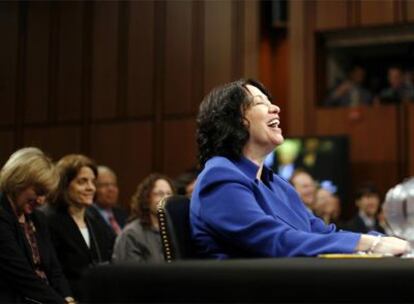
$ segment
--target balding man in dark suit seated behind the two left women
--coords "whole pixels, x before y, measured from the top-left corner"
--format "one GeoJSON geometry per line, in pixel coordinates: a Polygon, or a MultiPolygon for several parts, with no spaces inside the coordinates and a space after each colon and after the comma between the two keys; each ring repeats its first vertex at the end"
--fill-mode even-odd
{"type": "Polygon", "coordinates": [[[115,172],[108,167],[98,166],[95,203],[88,212],[108,227],[108,233],[113,238],[121,233],[128,218],[127,212],[117,206],[118,195],[118,180],[115,172]]]}

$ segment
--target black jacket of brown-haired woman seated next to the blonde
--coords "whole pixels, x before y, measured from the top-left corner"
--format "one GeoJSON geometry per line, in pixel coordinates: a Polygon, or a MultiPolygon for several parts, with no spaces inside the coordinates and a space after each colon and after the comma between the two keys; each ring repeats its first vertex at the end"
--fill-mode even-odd
{"type": "Polygon", "coordinates": [[[46,210],[46,214],[52,242],[63,273],[76,298],[82,300],[80,279],[83,272],[88,267],[110,261],[114,238],[109,238],[106,228],[85,213],[90,237],[90,248],[88,248],[78,226],[67,210],[50,207],[46,210]]]}

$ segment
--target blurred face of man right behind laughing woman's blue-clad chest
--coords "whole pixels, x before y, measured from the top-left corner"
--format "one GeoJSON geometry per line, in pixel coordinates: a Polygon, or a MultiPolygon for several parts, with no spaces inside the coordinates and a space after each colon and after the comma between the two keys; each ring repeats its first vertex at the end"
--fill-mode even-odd
{"type": "Polygon", "coordinates": [[[312,176],[302,169],[297,169],[293,172],[290,183],[298,192],[306,209],[313,213],[316,198],[316,182],[312,176]]]}

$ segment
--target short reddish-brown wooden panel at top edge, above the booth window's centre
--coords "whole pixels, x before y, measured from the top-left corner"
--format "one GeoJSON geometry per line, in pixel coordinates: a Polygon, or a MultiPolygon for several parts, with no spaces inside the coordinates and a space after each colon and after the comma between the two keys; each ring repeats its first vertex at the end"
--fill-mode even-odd
{"type": "Polygon", "coordinates": [[[361,25],[392,24],[396,15],[396,2],[393,0],[360,0],[361,25]]]}

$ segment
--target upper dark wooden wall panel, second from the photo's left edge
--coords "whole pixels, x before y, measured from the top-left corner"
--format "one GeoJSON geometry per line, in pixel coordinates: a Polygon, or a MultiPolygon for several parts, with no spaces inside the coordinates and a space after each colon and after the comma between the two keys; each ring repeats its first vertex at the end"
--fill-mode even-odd
{"type": "Polygon", "coordinates": [[[46,122],[49,101],[50,3],[28,2],[26,28],[26,122],[46,122]]]}

